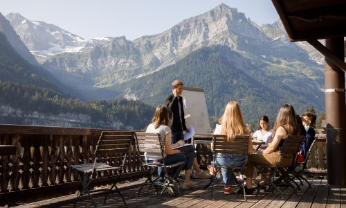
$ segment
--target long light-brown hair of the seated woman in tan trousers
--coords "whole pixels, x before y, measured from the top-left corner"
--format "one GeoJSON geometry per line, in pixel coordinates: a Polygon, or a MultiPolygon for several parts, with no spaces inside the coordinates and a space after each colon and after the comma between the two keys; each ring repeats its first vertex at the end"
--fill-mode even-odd
{"type": "Polygon", "coordinates": [[[273,128],[273,137],[276,133],[277,128],[280,126],[286,128],[289,135],[299,135],[299,125],[295,118],[295,111],[292,105],[283,105],[276,116],[275,125],[273,128]]]}

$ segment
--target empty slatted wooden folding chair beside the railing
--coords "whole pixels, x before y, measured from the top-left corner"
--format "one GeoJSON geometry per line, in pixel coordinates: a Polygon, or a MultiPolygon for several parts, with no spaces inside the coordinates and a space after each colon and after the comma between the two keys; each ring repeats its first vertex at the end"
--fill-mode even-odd
{"type": "Polygon", "coordinates": [[[100,139],[98,139],[98,144],[95,147],[94,162],[91,164],[78,164],[71,166],[72,170],[76,175],[78,175],[78,178],[82,183],[80,196],[76,198],[74,207],[82,197],[91,198],[94,207],[96,207],[89,191],[91,179],[96,173],[107,175],[109,182],[112,184],[111,188],[108,189],[107,195],[104,197],[104,203],[106,203],[107,197],[111,192],[117,192],[126,206],[125,199],[116,186],[116,183],[122,176],[122,168],[125,165],[127,153],[131,147],[133,138],[133,132],[103,131],[100,135],[100,139]],[[122,162],[118,165],[109,164],[107,159],[111,158],[120,159],[122,162]]]}

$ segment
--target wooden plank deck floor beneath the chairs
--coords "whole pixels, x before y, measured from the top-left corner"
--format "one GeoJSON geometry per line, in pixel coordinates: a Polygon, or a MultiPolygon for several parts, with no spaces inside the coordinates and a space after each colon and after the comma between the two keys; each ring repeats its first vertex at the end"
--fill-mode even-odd
{"type": "MultiPolygon", "coordinates": [[[[198,181],[200,186],[206,184],[206,180],[198,181]]],[[[164,194],[163,200],[159,200],[154,189],[144,188],[137,198],[138,186],[131,186],[122,191],[125,196],[128,207],[346,207],[346,189],[331,189],[326,180],[311,180],[311,189],[307,189],[307,184],[298,191],[298,196],[290,188],[284,190],[284,200],[281,200],[280,194],[260,192],[258,196],[247,196],[244,201],[243,196],[236,193],[224,195],[223,189],[215,191],[215,198],[212,199],[211,189],[206,190],[183,190],[183,196],[179,198],[164,194]]],[[[45,205],[44,203],[35,203],[32,205],[23,205],[25,207],[73,207],[74,196],[60,199],[60,202],[45,205]]],[[[117,193],[109,196],[107,204],[103,204],[104,193],[93,196],[98,207],[123,207],[122,200],[117,193]]],[[[90,200],[78,202],[77,207],[93,207],[90,200]]]]}

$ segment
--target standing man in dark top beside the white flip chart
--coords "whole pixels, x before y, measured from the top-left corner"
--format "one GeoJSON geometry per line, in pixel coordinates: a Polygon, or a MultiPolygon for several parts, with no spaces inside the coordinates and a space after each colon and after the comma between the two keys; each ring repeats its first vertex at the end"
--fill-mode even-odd
{"type": "Polygon", "coordinates": [[[172,92],[173,94],[166,98],[165,105],[173,114],[171,144],[175,144],[184,138],[183,130],[189,132],[185,125],[183,98],[180,96],[183,92],[183,82],[181,80],[173,81],[172,92]]]}

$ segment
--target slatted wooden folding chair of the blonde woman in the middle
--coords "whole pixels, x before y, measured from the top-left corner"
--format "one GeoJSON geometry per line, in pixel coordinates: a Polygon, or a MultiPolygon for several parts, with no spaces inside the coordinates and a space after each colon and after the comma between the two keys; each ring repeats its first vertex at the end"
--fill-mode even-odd
{"type": "MultiPolygon", "coordinates": [[[[214,155],[214,167],[217,167],[217,173],[221,171],[221,168],[233,168],[234,172],[241,173],[244,175],[244,167],[246,163],[242,166],[217,166],[215,163],[215,155],[219,153],[231,153],[235,155],[247,155],[248,154],[248,135],[236,135],[233,141],[227,141],[227,135],[214,135],[212,137],[212,153],[214,155]]],[[[233,177],[236,182],[236,186],[244,191],[244,200],[246,200],[245,194],[245,185],[244,178],[242,178],[242,182],[238,182],[233,172],[233,177]]],[[[215,186],[223,186],[224,184],[215,184],[215,177],[217,175],[212,175],[212,196],[214,197],[214,187],[215,186]]]]}

